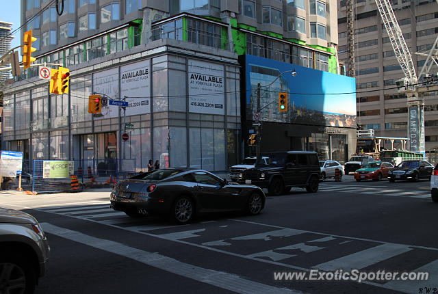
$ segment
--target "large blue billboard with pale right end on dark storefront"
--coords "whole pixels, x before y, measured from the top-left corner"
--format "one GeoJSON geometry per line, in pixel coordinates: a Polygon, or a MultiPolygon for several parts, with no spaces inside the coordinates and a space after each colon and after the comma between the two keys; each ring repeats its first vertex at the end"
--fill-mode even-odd
{"type": "Polygon", "coordinates": [[[354,78],[253,55],[245,55],[245,72],[248,120],[260,112],[260,120],[266,122],[356,128],[354,78]],[[292,70],[294,77],[287,72],[292,70]],[[261,111],[257,109],[257,83],[261,84],[261,111]],[[280,92],[287,93],[287,111],[279,111],[280,92]]]}

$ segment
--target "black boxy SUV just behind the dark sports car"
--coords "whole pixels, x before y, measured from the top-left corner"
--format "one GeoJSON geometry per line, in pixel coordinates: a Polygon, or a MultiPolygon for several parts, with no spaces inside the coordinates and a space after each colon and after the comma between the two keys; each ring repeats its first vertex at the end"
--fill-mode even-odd
{"type": "Polygon", "coordinates": [[[263,156],[269,157],[268,164],[258,161],[255,168],[239,174],[237,183],[268,188],[269,193],[277,196],[292,187],[318,191],[321,169],[316,152],[270,152],[263,156]]]}

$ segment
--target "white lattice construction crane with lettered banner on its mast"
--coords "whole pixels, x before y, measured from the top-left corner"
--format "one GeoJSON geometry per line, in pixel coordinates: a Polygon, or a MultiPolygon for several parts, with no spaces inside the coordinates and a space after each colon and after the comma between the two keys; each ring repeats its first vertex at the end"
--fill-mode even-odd
{"type": "MultiPolygon", "coordinates": [[[[352,2],[352,0],[346,0],[352,2]]],[[[410,139],[409,144],[411,151],[413,152],[425,152],[424,142],[424,92],[438,90],[438,75],[435,72],[431,74],[433,66],[438,66],[438,37],[435,40],[432,48],[428,54],[417,53],[418,55],[427,56],[424,66],[417,77],[415,72],[415,65],[412,61],[412,55],[409,51],[409,47],[403,38],[402,30],[398,25],[397,18],[394,11],[391,8],[389,0],[375,0],[378,8],[378,12],[381,14],[383,24],[387,30],[389,40],[391,41],[392,49],[396,55],[398,64],[403,70],[404,78],[397,82],[400,92],[404,92],[407,95],[407,108],[408,108],[408,137],[410,139]]],[[[347,6],[347,22],[352,22],[353,13],[352,9],[348,10],[347,6]]],[[[349,27],[347,23],[347,27],[349,27]]],[[[352,24],[350,25],[352,27],[352,24]]],[[[350,46],[348,47],[350,50],[350,46]]],[[[353,47],[354,51],[354,47],[353,47]]],[[[354,65],[354,60],[353,60],[354,65]]],[[[351,67],[351,64],[350,64],[351,67]]],[[[352,69],[354,72],[354,68],[352,69]]]]}

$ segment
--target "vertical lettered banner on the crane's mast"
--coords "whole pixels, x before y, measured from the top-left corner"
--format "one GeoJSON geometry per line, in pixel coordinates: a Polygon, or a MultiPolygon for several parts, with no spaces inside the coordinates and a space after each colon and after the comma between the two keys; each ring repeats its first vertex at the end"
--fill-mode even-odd
{"type": "Polygon", "coordinates": [[[409,107],[409,139],[412,152],[424,152],[424,112],[422,107],[409,107]]]}

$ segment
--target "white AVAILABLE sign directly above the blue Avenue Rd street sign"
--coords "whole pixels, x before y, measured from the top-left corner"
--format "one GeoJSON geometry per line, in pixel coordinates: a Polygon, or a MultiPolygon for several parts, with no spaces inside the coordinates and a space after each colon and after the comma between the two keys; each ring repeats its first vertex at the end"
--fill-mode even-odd
{"type": "Polygon", "coordinates": [[[120,68],[120,96],[126,98],[129,107],[126,109],[127,116],[135,116],[151,112],[150,102],[150,75],[149,60],[128,64],[120,68]]]}

